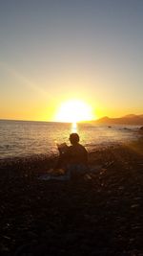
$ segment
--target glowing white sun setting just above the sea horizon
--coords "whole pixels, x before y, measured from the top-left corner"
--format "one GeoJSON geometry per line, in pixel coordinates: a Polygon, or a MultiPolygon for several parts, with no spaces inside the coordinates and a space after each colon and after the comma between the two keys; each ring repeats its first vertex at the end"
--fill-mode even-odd
{"type": "Polygon", "coordinates": [[[92,106],[79,100],[63,103],[55,116],[58,122],[80,122],[94,119],[92,106]]]}

